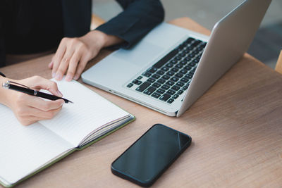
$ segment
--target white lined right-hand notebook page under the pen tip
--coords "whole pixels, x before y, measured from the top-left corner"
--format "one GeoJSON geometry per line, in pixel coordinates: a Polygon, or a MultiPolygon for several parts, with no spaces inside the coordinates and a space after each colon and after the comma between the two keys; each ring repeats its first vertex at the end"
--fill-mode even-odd
{"type": "Polygon", "coordinates": [[[53,119],[40,123],[75,146],[93,130],[128,115],[79,82],[56,82],[63,98],[73,101],[73,104],[64,104],[53,119]]]}

